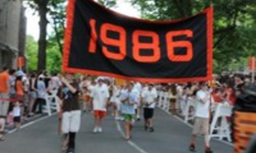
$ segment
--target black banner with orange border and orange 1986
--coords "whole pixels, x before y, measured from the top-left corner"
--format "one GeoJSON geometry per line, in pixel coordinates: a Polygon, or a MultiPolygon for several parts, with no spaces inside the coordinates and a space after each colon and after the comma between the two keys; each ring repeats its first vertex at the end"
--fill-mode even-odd
{"type": "Polygon", "coordinates": [[[213,9],[176,21],[126,17],[91,0],[70,0],[64,72],[141,82],[207,81],[213,9]]]}

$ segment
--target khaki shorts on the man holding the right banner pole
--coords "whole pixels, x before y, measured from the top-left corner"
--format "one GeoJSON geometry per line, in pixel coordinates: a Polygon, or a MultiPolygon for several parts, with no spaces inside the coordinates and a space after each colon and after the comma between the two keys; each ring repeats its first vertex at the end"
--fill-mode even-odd
{"type": "Polygon", "coordinates": [[[209,135],[209,119],[206,118],[195,118],[195,124],[193,128],[193,135],[209,135]]]}

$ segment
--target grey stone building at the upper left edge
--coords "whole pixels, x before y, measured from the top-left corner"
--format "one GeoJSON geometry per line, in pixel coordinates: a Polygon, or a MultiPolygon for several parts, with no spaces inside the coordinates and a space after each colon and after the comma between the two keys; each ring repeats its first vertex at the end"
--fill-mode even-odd
{"type": "Polygon", "coordinates": [[[22,0],[0,0],[0,69],[17,68],[17,57],[24,57],[25,30],[22,0]]]}

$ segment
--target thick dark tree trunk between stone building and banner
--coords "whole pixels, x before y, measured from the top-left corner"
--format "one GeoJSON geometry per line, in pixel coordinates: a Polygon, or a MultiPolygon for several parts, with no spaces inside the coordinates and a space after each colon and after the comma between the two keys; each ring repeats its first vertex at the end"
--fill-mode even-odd
{"type": "Polygon", "coordinates": [[[48,0],[41,0],[37,3],[39,8],[39,26],[40,26],[40,37],[38,41],[38,71],[45,70],[46,68],[46,35],[47,35],[47,4],[48,0]]]}

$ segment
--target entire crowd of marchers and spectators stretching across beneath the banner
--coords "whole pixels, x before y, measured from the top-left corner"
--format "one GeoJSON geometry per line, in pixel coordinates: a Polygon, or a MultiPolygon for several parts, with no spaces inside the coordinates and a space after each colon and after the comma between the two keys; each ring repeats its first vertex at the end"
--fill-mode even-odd
{"type": "MultiPolygon", "coordinates": [[[[172,114],[182,112],[182,101],[196,99],[195,124],[189,150],[196,150],[196,137],[203,134],[205,152],[210,153],[211,102],[234,105],[236,97],[250,82],[248,78],[239,75],[213,78],[210,82],[178,84],[117,83],[107,77],[77,78],[75,74],[48,75],[45,71],[26,74],[21,70],[4,68],[0,73],[0,133],[4,132],[6,124],[18,129],[27,118],[43,113],[46,94],[56,91],[61,106],[58,117],[59,128],[63,134],[63,151],[74,152],[75,137],[80,128],[83,111],[93,113],[93,133],[104,131],[104,119],[107,112],[112,111],[115,120],[123,121],[125,140],[130,140],[133,126],[136,121],[141,120],[141,114],[145,130],[154,132],[153,116],[158,91],[165,91],[169,93],[172,114]]],[[[5,139],[3,134],[0,139],[5,139]]]]}

